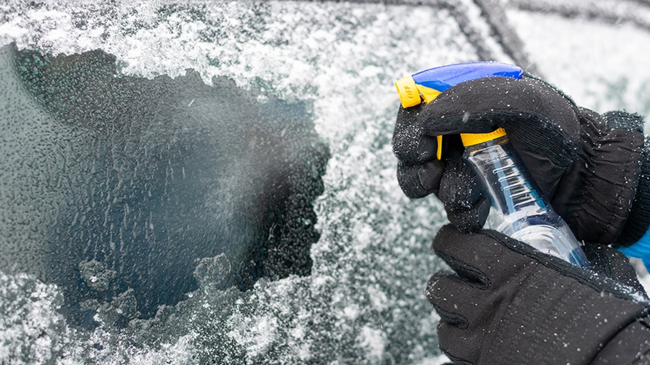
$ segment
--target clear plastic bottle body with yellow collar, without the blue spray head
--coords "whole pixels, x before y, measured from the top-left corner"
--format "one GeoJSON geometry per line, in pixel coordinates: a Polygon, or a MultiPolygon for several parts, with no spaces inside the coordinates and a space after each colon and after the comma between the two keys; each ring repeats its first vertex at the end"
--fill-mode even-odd
{"type": "Polygon", "coordinates": [[[487,226],[543,253],[589,267],[578,240],[552,209],[512,147],[504,129],[461,134],[465,153],[492,203],[487,226]]]}

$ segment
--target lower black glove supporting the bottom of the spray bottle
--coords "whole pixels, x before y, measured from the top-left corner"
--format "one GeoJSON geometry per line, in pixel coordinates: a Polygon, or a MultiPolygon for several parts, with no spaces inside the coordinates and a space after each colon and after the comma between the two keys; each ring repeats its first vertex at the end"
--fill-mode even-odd
{"type": "Polygon", "coordinates": [[[594,247],[590,261],[605,271],[496,231],[443,227],[434,250],[456,274],[436,273],[426,290],[441,317],[441,349],[455,364],[476,365],[632,364],[647,356],[645,292],[621,253],[594,247]]]}

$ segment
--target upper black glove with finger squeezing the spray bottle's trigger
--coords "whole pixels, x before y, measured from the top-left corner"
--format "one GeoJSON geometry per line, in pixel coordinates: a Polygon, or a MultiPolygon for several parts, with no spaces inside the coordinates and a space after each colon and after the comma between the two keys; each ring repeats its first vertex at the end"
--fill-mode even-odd
{"type": "Polygon", "coordinates": [[[412,198],[434,193],[461,231],[483,227],[489,199],[461,159],[458,133],[503,127],[542,192],[578,239],[630,245],[650,225],[650,163],[643,118],[577,107],[546,82],[490,77],[449,88],[429,104],[401,108],[393,150],[412,198]],[[437,160],[435,136],[443,134],[437,160]],[[641,177],[641,178],[640,178],[641,177]]]}

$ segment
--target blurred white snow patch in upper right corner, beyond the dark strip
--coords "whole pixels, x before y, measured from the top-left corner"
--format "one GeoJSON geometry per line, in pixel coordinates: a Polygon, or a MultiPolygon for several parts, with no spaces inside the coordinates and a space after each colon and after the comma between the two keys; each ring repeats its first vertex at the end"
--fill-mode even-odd
{"type": "MultiPolygon", "coordinates": [[[[650,21],[649,9],[641,7],[645,21],[650,21]]],[[[611,24],[522,10],[508,11],[508,18],[541,73],[578,105],[597,112],[623,108],[650,113],[648,29],[623,20],[611,24]]]]}

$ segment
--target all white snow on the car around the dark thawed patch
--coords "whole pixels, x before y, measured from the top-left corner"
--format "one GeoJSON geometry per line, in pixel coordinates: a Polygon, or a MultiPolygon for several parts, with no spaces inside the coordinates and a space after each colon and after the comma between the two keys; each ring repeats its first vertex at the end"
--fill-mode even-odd
{"type": "MultiPolygon", "coordinates": [[[[462,3],[484,27],[480,11],[462,3]]],[[[205,258],[212,269],[196,271],[200,288],[185,301],[112,327],[110,318],[129,302],[125,294],[100,308],[96,320],[104,325],[88,330],[57,312],[56,286],[0,274],[0,310],[7,314],[0,318],[0,362],[445,361],[435,334],[439,318],[424,297],[429,275],[442,266],[429,245],[445,214],[435,199],[403,196],[390,138],[396,79],[477,59],[449,10],[292,1],[39,4],[0,5],[0,45],[55,55],[101,48],[116,56],[123,75],[175,77],[192,68],[208,84],[222,75],[244,89],[307,101],[331,158],[315,204],[322,234],[311,248],[311,275],[261,279],[246,292],[216,290],[211,283],[229,270],[227,259],[205,258]]],[[[544,76],[580,105],[650,110],[647,31],[514,6],[508,18],[544,76]]],[[[510,62],[500,49],[493,54],[510,62]]]]}

